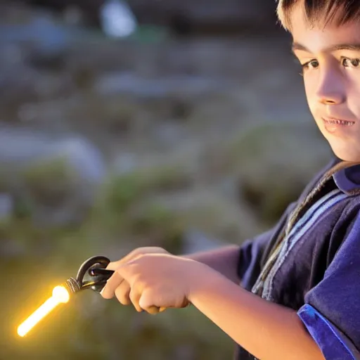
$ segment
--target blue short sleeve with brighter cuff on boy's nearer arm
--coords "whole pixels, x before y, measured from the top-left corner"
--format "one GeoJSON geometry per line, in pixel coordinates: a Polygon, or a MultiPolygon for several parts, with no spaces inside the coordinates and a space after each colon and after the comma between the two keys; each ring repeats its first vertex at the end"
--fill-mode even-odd
{"type": "MultiPolygon", "coordinates": [[[[360,214],[298,311],[326,360],[360,360],[360,214]]],[[[341,234],[338,234],[341,236],[341,234]]]]}

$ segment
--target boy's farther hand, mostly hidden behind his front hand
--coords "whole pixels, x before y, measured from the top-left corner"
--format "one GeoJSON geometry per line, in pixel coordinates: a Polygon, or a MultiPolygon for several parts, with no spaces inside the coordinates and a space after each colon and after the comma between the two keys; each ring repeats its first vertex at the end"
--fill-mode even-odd
{"type": "MultiPolygon", "coordinates": [[[[158,248],[155,246],[137,248],[137,249],[129,252],[128,255],[122,257],[122,259],[118,260],[117,262],[110,262],[110,264],[108,264],[106,269],[115,271],[121,264],[129,262],[132,259],[135,259],[136,257],[139,257],[141,255],[146,255],[146,254],[169,254],[169,252],[167,252],[167,250],[165,250],[163,248],[158,248]]],[[[119,281],[120,281],[121,280],[120,276],[117,276],[117,277],[119,278],[119,281]]],[[[129,305],[129,304],[131,304],[129,295],[130,295],[130,285],[127,281],[124,280],[117,287],[115,296],[117,297],[117,300],[119,300],[119,302],[121,304],[129,305]]]]}

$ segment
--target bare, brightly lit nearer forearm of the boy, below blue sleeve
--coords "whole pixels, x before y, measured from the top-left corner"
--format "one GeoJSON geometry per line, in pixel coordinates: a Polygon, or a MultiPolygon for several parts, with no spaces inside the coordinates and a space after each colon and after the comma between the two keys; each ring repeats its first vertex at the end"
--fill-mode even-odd
{"type": "Polygon", "coordinates": [[[268,302],[214,273],[198,281],[191,303],[262,360],[324,360],[296,311],[268,302]]]}

